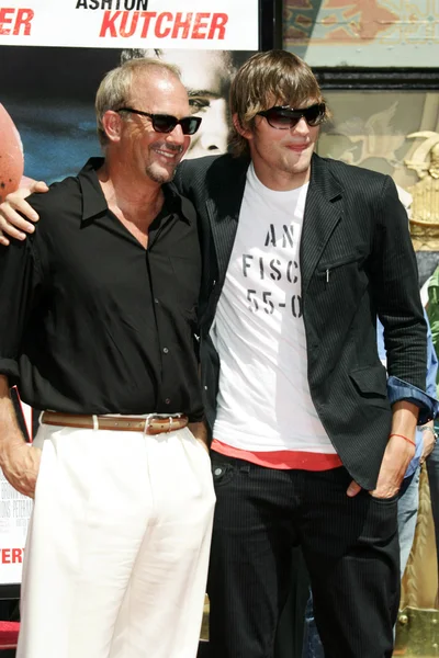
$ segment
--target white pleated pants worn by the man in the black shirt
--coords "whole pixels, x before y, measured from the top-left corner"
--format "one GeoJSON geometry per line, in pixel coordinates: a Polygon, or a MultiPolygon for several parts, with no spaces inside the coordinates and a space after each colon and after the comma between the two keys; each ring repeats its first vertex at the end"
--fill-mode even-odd
{"type": "Polygon", "coordinates": [[[195,658],[215,495],[188,430],[42,426],[16,658],[195,658]]]}

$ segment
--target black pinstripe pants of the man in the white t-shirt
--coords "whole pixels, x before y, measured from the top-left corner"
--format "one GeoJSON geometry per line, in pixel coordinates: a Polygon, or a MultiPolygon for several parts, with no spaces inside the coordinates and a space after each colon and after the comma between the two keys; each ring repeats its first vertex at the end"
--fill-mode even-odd
{"type": "Polygon", "coordinates": [[[301,545],[326,658],[390,658],[399,601],[396,503],[348,498],[344,468],[277,470],[212,453],[212,658],[272,658],[301,545]]]}

